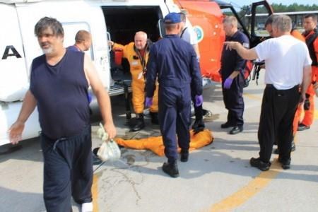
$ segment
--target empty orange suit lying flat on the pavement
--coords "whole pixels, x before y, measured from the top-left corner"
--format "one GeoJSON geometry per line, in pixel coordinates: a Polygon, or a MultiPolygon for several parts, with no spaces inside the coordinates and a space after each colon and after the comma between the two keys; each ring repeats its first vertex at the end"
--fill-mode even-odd
{"type": "MultiPolygon", "coordinates": [[[[213,142],[212,132],[208,129],[204,129],[204,131],[200,131],[198,134],[194,135],[193,130],[190,131],[190,151],[201,148],[213,142]]],[[[114,139],[120,146],[124,146],[126,148],[134,148],[134,149],[147,149],[153,151],[153,153],[163,156],[165,155],[164,150],[165,146],[163,146],[163,137],[148,137],[146,139],[114,139]]],[[[180,148],[178,148],[178,152],[180,148]]]]}

